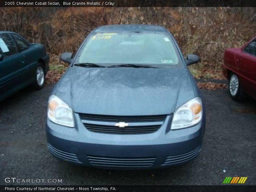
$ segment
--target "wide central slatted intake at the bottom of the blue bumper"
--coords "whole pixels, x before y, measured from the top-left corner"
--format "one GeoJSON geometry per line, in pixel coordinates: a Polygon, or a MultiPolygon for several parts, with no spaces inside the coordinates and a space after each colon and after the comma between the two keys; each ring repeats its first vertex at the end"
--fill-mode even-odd
{"type": "Polygon", "coordinates": [[[150,167],[156,157],[105,157],[87,155],[92,165],[111,167],[150,167]]]}

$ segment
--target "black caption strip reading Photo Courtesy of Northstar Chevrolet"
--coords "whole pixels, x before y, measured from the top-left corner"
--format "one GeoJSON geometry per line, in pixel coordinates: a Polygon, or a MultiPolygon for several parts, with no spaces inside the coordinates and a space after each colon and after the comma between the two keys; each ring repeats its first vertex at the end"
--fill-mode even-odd
{"type": "Polygon", "coordinates": [[[246,185],[227,185],[227,186],[111,186],[111,185],[105,185],[105,186],[55,186],[55,185],[48,185],[48,186],[1,186],[0,191],[17,191],[17,192],[48,192],[48,191],[74,191],[74,192],[99,192],[99,191],[108,191],[108,192],[142,192],[142,191],[156,191],[156,192],[180,192],[180,191],[207,191],[207,192],[236,192],[236,191],[256,191],[255,186],[246,186],[246,185]]]}

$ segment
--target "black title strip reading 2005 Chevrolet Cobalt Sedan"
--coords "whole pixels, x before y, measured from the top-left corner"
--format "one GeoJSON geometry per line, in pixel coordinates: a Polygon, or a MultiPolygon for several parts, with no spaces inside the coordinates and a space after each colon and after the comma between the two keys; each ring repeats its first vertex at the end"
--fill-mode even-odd
{"type": "Polygon", "coordinates": [[[1,0],[0,7],[255,7],[253,0],[1,0]]]}

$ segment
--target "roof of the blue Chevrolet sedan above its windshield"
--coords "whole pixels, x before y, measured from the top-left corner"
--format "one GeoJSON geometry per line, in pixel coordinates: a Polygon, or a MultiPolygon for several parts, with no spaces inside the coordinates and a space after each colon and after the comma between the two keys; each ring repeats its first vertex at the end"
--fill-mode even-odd
{"type": "Polygon", "coordinates": [[[136,25],[136,24],[104,25],[95,29],[95,32],[114,32],[114,31],[166,32],[166,29],[162,26],[157,26],[157,25],[136,25]]]}

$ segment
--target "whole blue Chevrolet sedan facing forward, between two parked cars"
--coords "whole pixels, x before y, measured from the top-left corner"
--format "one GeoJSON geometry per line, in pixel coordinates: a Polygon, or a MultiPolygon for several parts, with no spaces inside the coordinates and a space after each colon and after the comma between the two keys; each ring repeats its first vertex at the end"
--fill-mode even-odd
{"type": "Polygon", "coordinates": [[[50,152],[101,168],[161,168],[200,152],[205,108],[185,60],[165,28],[96,28],[73,57],[48,101],[50,152]]]}

